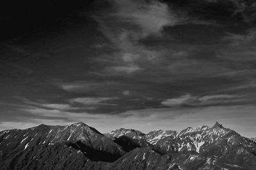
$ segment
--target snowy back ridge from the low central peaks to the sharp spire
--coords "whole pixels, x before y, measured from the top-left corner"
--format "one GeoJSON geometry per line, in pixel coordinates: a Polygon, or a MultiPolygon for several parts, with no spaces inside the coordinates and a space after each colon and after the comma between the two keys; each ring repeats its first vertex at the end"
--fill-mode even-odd
{"type": "Polygon", "coordinates": [[[211,143],[223,138],[229,132],[232,132],[230,129],[223,127],[223,125],[216,122],[214,126],[208,127],[203,125],[200,127],[188,127],[182,131],[151,131],[148,134],[143,134],[140,131],[134,129],[116,129],[111,131],[105,136],[109,138],[119,138],[120,136],[128,136],[134,139],[145,139],[148,143],[152,145],[159,145],[164,147],[165,150],[176,150],[180,152],[182,150],[200,152],[202,146],[211,143]]]}

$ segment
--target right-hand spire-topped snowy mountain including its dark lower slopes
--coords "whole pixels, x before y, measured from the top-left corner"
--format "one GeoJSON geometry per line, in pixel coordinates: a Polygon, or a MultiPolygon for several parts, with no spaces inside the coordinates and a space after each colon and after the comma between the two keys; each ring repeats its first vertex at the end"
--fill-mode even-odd
{"type": "Polygon", "coordinates": [[[144,136],[144,139],[172,155],[173,167],[177,165],[183,169],[189,169],[192,165],[201,169],[256,167],[256,145],[252,139],[244,138],[218,122],[212,127],[204,125],[196,128],[188,127],[182,131],[151,131],[144,136]]]}

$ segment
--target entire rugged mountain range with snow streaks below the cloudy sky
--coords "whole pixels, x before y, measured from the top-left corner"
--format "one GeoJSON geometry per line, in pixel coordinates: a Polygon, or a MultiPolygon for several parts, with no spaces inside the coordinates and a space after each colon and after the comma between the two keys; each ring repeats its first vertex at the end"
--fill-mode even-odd
{"type": "Polygon", "coordinates": [[[216,124],[182,131],[117,129],[83,123],[0,132],[1,169],[255,169],[254,139],[216,124]]]}

